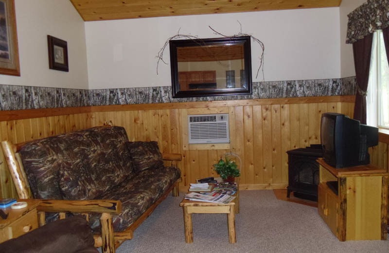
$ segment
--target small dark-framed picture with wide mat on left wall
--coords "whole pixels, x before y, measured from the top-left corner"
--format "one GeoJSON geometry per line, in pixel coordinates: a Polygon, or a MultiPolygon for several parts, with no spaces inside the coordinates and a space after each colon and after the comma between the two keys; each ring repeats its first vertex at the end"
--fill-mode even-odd
{"type": "Polygon", "coordinates": [[[49,46],[49,68],[69,72],[68,42],[48,35],[47,43],[49,46]]]}

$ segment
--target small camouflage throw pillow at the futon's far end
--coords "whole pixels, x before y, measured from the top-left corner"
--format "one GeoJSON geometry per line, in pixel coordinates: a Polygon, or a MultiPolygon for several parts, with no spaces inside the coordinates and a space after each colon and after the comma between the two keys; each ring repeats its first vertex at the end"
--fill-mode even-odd
{"type": "Polygon", "coordinates": [[[126,145],[137,172],[163,167],[157,142],[127,142],[126,145]]]}

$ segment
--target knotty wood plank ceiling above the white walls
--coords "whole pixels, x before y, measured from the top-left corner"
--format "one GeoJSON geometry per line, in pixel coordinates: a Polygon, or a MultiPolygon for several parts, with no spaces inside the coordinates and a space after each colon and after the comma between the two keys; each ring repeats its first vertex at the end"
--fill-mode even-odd
{"type": "Polygon", "coordinates": [[[338,7],[342,0],[70,0],[85,21],[338,7]]]}

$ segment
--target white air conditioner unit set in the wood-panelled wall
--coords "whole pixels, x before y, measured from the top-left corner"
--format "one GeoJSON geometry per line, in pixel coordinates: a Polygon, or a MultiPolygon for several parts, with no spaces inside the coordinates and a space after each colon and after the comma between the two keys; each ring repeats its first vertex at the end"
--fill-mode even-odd
{"type": "Polygon", "coordinates": [[[230,143],[228,113],[188,115],[189,144],[230,143]]]}

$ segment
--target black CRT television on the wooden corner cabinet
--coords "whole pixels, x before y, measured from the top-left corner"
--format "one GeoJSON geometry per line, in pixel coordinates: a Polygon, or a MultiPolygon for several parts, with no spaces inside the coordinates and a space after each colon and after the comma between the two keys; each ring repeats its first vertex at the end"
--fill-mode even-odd
{"type": "Polygon", "coordinates": [[[336,168],[369,164],[368,149],[378,145],[378,128],[340,113],[323,113],[320,139],[324,161],[336,168]]]}

